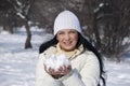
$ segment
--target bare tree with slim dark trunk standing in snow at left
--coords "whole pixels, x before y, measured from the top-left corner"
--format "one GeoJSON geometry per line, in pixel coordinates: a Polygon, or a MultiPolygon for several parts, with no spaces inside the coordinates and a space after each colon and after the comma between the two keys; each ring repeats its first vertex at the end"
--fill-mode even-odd
{"type": "Polygon", "coordinates": [[[8,0],[14,8],[15,14],[21,17],[23,20],[25,28],[26,28],[26,33],[27,33],[27,39],[25,43],[25,48],[31,48],[31,32],[29,30],[29,25],[28,25],[28,13],[30,10],[30,6],[32,4],[34,0],[8,0]]]}

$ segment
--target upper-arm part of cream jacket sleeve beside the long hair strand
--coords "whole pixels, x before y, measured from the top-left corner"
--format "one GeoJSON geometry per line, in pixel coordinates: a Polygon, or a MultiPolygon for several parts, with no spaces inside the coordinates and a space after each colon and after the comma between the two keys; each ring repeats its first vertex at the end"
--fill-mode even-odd
{"type": "Polygon", "coordinates": [[[93,53],[88,53],[86,63],[80,71],[86,86],[98,86],[100,82],[100,63],[93,53]]]}

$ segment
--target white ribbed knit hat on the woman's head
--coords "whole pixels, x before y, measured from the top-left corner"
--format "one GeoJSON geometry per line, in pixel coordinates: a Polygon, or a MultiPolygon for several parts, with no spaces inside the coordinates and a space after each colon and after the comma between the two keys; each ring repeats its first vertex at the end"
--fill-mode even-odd
{"type": "Polygon", "coordinates": [[[78,17],[70,11],[63,11],[57,15],[54,22],[54,35],[62,29],[75,29],[81,33],[78,17]]]}

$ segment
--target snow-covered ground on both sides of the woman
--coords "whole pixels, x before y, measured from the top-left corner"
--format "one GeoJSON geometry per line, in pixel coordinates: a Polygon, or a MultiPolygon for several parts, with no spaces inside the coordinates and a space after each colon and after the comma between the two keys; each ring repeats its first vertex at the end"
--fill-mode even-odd
{"type": "MultiPolygon", "coordinates": [[[[52,35],[38,29],[31,33],[32,49],[24,49],[25,30],[15,34],[0,31],[0,86],[35,86],[38,47],[52,35]]],[[[105,61],[105,69],[107,86],[130,86],[130,61],[105,61]]]]}

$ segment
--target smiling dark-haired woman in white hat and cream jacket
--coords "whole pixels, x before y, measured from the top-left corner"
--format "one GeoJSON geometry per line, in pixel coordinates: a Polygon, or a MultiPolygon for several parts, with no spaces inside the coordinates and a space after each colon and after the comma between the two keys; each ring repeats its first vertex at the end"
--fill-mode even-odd
{"type": "MultiPolygon", "coordinates": [[[[103,63],[98,51],[82,37],[77,16],[63,11],[54,22],[54,38],[41,44],[36,70],[36,86],[99,86],[103,63]],[[52,55],[64,54],[69,66],[47,69],[44,61],[52,55]]],[[[57,57],[58,58],[58,57],[57,57]]]]}

